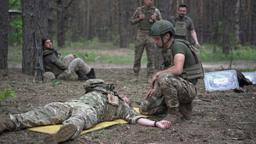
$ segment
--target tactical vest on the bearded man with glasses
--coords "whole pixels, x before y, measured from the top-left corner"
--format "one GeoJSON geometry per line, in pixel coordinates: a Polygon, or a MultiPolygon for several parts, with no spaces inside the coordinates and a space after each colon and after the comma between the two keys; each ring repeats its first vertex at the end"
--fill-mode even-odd
{"type": "Polygon", "coordinates": [[[187,36],[187,16],[185,16],[183,21],[180,21],[178,16],[174,16],[175,24],[174,28],[176,30],[175,36],[187,36]]]}

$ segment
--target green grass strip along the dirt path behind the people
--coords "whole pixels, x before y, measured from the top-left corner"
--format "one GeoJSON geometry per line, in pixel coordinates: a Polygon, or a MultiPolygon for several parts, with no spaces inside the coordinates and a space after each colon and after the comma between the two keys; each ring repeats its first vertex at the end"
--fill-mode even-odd
{"type": "MultiPolygon", "coordinates": [[[[57,43],[53,41],[53,46],[57,46],[57,43]]],[[[97,38],[91,41],[75,42],[71,43],[70,47],[59,48],[58,52],[62,54],[62,57],[76,53],[78,58],[83,59],[86,63],[133,63],[134,62],[134,44],[131,43],[128,49],[128,53],[124,55],[112,55],[112,54],[100,54],[96,53],[96,50],[116,50],[118,46],[115,46],[111,42],[100,42],[97,38]],[[89,49],[89,53],[78,53],[78,49],[89,49]]],[[[222,48],[217,47],[216,53],[213,53],[213,44],[203,44],[198,48],[199,55],[202,62],[222,62],[230,61],[231,54],[225,55],[222,53],[222,48]]],[[[233,50],[233,57],[235,60],[256,60],[256,48],[253,46],[241,46],[239,50],[233,50]]],[[[9,47],[8,62],[22,63],[22,48],[21,47],[9,47]]],[[[146,52],[144,50],[142,56],[142,63],[147,62],[146,52]]],[[[255,68],[256,69],[256,68],[255,68]]],[[[249,70],[251,71],[251,70],[249,70]]],[[[246,72],[243,71],[243,72],[246,72]]]]}

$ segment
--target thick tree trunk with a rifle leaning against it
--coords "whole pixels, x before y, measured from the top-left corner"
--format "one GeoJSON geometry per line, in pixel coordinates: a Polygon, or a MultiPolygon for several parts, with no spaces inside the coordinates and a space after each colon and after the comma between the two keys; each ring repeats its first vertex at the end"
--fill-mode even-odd
{"type": "MultiPolygon", "coordinates": [[[[38,44],[47,34],[48,27],[48,0],[22,0],[22,73],[33,75],[37,67],[37,48],[34,31],[38,44]],[[39,7],[40,6],[40,7],[39,7]]],[[[41,51],[42,53],[42,51],[41,51]]]]}

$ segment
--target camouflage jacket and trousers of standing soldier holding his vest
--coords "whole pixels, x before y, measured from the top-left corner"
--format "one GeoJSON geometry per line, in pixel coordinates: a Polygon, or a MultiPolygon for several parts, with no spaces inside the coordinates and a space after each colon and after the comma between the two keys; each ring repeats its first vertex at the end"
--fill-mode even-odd
{"type": "MultiPolygon", "coordinates": [[[[151,8],[152,9],[152,8],[151,8]]],[[[146,11],[150,11],[151,9],[146,9],[146,11]]],[[[139,15],[143,14],[142,7],[138,7],[134,12],[132,18],[130,19],[130,23],[135,25],[139,23],[139,15]]],[[[155,9],[154,15],[156,16],[156,21],[162,20],[161,13],[158,9],[155,9]]],[[[134,64],[133,64],[133,71],[134,76],[138,76],[140,65],[141,65],[141,58],[144,51],[144,47],[146,47],[146,54],[148,58],[147,63],[147,77],[151,78],[154,71],[154,52],[155,52],[155,42],[154,39],[149,36],[149,29],[148,30],[141,30],[138,28],[137,36],[135,37],[135,44],[134,44],[134,64]]]]}

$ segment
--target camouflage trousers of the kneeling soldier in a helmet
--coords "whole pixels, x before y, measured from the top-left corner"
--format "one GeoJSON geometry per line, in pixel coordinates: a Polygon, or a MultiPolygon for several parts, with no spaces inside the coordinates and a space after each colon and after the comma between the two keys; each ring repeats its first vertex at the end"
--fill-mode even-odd
{"type": "Polygon", "coordinates": [[[157,79],[154,94],[144,100],[139,111],[145,115],[164,114],[167,108],[178,108],[179,103],[189,103],[196,97],[196,87],[179,76],[161,74],[157,79]],[[159,92],[160,91],[160,92],[159,92]],[[160,106],[156,105],[156,98],[164,96],[160,106]]]}

